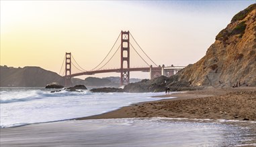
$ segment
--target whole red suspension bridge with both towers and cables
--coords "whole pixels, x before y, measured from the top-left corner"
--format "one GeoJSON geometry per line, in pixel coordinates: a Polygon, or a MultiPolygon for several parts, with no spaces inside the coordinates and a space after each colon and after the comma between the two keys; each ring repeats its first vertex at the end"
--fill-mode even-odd
{"type": "MultiPolygon", "coordinates": [[[[93,75],[96,73],[110,73],[110,72],[118,72],[120,73],[120,84],[129,84],[130,83],[130,71],[142,71],[149,72],[150,79],[157,78],[161,75],[163,76],[172,76],[177,71],[182,69],[184,66],[169,66],[165,67],[165,65],[157,65],[146,53],[144,50],[138,45],[134,37],[129,31],[121,31],[121,33],[116,39],[112,49],[110,49],[108,55],[104,57],[104,59],[97,65],[95,68],[87,71],[83,69],[71,53],[66,53],[65,55],[65,86],[71,86],[71,78],[75,76],[83,76],[83,75],[93,75]],[[116,45],[118,39],[121,39],[121,44],[116,45]],[[135,48],[135,46],[137,48],[135,48]],[[116,49],[115,49],[116,48],[116,49]],[[120,51],[121,57],[118,55],[118,51],[120,51]],[[118,59],[118,57],[120,57],[118,59]],[[75,61],[75,63],[71,62],[71,59],[75,61]],[[132,60],[130,60],[132,59],[132,60]],[[138,61],[139,59],[139,61],[138,61]],[[121,60],[120,67],[114,68],[113,65],[116,65],[116,62],[121,60]],[[113,62],[113,63],[112,63],[113,62]],[[133,63],[134,62],[134,63],[133,63]],[[144,63],[144,67],[132,67],[134,65],[140,65],[144,63]],[[71,65],[75,67],[79,72],[71,73],[71,65]],[[108,69],[107,69],[108,68],[108,69]]],[[[64,65],[64,61],[62,66],[64,65]]],[[[62,68],[61,68],[62,69],[62,68]]],[[[60,69],[60,71],[61,71],[60,69]]]]}

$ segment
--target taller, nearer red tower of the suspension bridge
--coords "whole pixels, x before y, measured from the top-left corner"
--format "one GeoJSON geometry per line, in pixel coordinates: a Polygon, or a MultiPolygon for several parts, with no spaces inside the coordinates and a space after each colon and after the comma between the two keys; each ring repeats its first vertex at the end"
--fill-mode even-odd
{"type": "Polygon", "coordinates": [[[130,83],[130,32],[121,32],[121,86],[130,83]]]}

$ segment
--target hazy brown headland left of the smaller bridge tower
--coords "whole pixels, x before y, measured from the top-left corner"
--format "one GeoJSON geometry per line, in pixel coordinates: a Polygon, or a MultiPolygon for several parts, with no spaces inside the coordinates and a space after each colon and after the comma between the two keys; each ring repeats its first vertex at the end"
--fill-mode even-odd
{"type": "Polygon", "coordinates": [[[57,73],[40,67],[0,67],[1,87],[44,87],[46,84],[58,82],[64,85],[64,79],[57,73]]]}

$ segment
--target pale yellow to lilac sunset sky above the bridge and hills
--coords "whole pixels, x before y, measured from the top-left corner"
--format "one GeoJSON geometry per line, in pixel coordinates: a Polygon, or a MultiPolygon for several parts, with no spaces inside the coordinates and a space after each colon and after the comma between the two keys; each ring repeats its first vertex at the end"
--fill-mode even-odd
{"type": "MultiPolygon", "coordinates": [[[[253,3],[1,0],[0,65],[39,66],[62,74],[65,53],[71,52],[83,69],[90,70],[108,54],[123,30],[132,33],[157,65],[185,66],[201,59],[218,32],[253,3]]],[[[113,67],[120,67],[120,62],[113,67]]],[[[95,75],[105,76],[120,73],[95,75]]],[[[149,73],[130,76],[149,78],[149,73]]]]}

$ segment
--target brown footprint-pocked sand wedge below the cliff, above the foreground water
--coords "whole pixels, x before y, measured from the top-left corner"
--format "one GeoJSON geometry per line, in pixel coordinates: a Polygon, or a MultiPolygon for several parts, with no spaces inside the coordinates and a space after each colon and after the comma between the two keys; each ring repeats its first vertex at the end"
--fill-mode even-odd
{"type": "Polygon", "coordinates": [[[177,97],[156,102],[142,102],[97,116],[76,120],[103,118],[200,118],[223,120],[256,120],[256,88],[211,88],[157,96],[177,97]]]}

